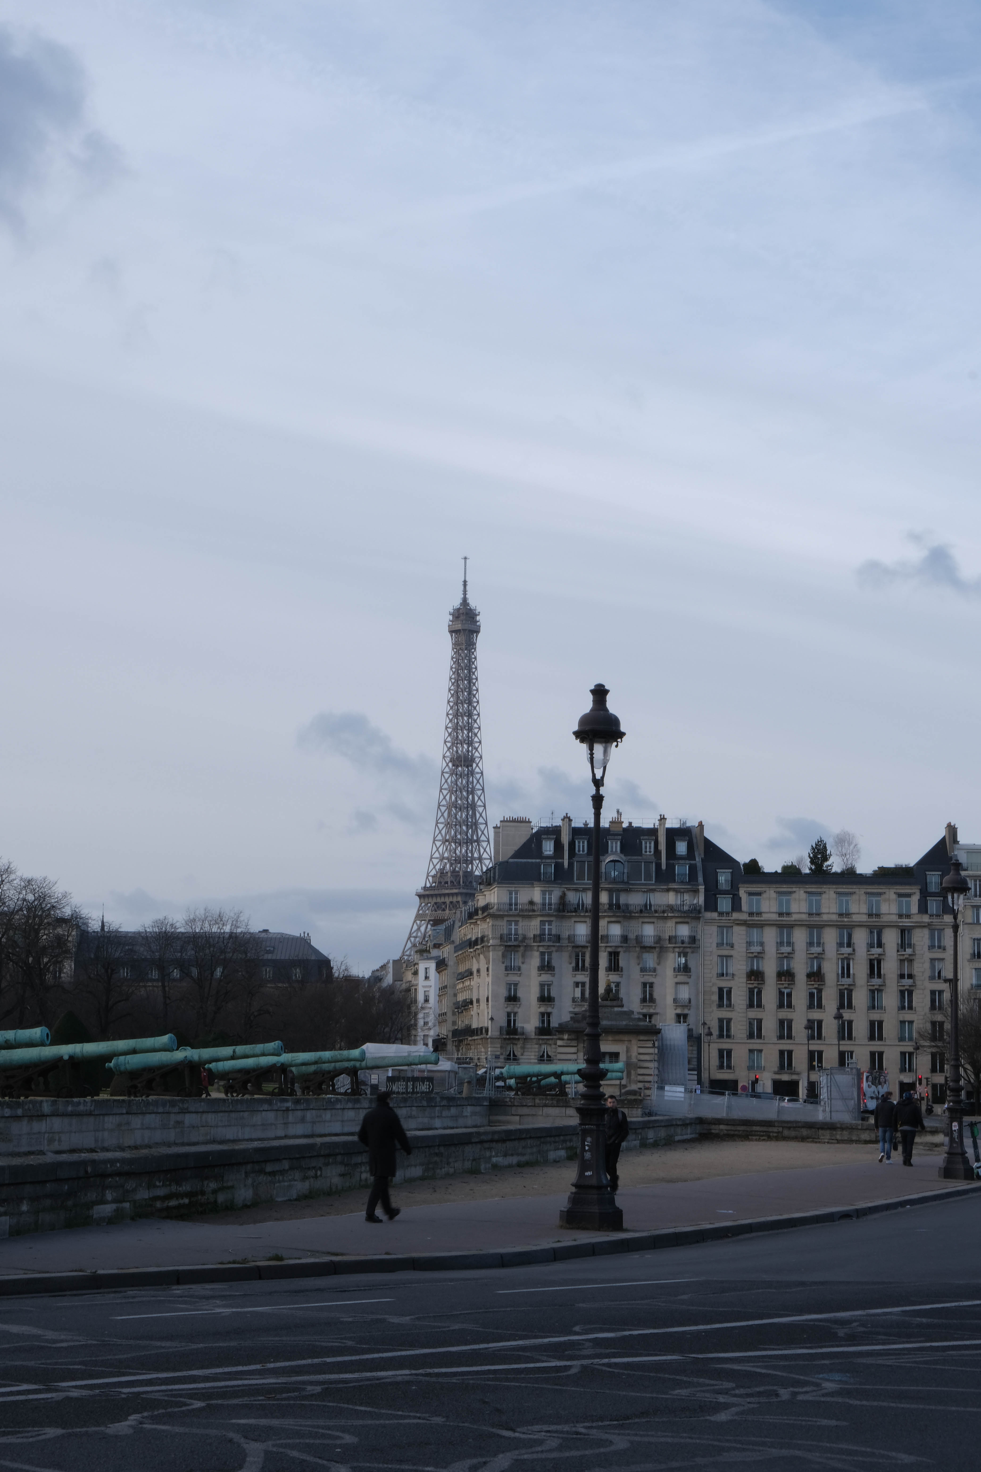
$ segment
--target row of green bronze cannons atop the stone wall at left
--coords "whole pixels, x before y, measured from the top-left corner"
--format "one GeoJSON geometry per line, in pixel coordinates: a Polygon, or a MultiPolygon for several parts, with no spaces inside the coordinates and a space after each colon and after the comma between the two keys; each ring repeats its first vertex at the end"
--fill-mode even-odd
{"type": "Polygon", "coordinates": [[[100,1092],[91,1082],[90,1067],[99,1060],[104,1060],[113,1076],[125,1079],[129,1097],[159,1092],[200,1097],[212,1082],[221,1083],[226,1095],[334,1094],[341,1092],[341,1079],[347,1079],[343,1092],[359,1094],[363,1070],[432,1067],[440,1055],[385,1052],[381,1045],[287,1052],[281,1042],[178,1048],[174,1033],[51,1045],[49,1029],[34,1027],[0,1032],[0,1097],[47,1092],[60,1098],[91,1097],[100,1092]]]}

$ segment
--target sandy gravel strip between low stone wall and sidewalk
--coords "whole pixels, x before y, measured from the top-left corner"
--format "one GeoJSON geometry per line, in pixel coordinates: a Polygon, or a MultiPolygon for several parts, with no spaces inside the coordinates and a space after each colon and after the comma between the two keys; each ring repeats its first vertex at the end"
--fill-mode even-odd
{"type": "MultiPolygon", "coordinates": [[[[916,1142],[922,1153],[924,1138],[916,1142]]],[[[628,1151],[621,1156],[621,1185],[646,1186],[671,1181],[709,1181],[718,1176],[743,1176],[760,1170],[800,1170],[822,1166],[865,1163],[869,1145],[810,1145],[794,1141],[704,1139],[654,1150],[628,1151]]],[[[872,1157],[874,1158],[874,1157],[872,1157]]],[[[488,1201],[500,1197],[553,1195],[572,1183],[574,1161],[554,1166],[516,1166],[512,1170],[491,1170],[485,1175],[449,1176],[446,1181],[396,1181],[396,1206],[437,1206],[443,1201],[488,1201]]],[[[366,1192],[343,1191],[338,1195],[316,1197],[312,1201],[271,1201],[268,1206],[244,1207],[241,1211],[182,1216],[184,1222],[293,1222],[312,1216],[347,1216],[363,1210],[366,1192]]]]}

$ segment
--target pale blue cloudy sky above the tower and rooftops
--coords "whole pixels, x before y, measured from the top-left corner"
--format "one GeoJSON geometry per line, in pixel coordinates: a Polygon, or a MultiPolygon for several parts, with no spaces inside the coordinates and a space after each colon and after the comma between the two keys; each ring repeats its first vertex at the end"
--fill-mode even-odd
{"type": "Polygon", "coordinates": [[[959,824],[981,10],[0,0],[0,857],[397,954],[491,823],[959,824]]]}

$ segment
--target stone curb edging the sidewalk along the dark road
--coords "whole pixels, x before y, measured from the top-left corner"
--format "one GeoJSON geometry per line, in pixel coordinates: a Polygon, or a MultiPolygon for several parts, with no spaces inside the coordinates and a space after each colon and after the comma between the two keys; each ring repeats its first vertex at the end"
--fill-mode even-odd
{"type": "Polygon", "coordinates": [[[203,1263],[197,1267],[121,1267],[91,1273],[24,1273],[0,1278],[0,1298],[49,1292],[109,1292],[122,1288],[176,1288],[187,1284],[275,1282],[284,1278],[337,1278],[352,1273],[462,1272],[488,1267],[527,1267],[535,1263],[568,1263],[577,1257],[609,1257],[619,1253],[650,1253],[665,1247],[694,1247],[729,1236],[760,1232],[787,1232],[796,1226],[828,1226],[882,1216],[906,1207],[930,1206],[974,1195],[981,1182],[924,1191],[890,1201],[831,1207],[825,1211],[799,1211],[790,1216],[762,1216],[746,1222],[709,1222],[704,1226],[666,1228],[660,1232],[624,1232],[616,1236],[591,1236],[557,1247],[513,1247],[500,1253],[421,1253],[416,1256],[313,1257],[285,1263],[203,1263]]]}

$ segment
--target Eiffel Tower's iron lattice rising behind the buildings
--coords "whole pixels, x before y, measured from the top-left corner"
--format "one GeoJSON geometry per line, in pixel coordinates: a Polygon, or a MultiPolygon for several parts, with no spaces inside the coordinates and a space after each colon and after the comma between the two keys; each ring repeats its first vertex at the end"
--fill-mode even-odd
{"type": "Polygon", "coordinates": [[[402,949],[403,961],[412,960],[416,946],[428,944],[432,926],[462,914],[491,861],[477,686],[481,617],[466,596],[466,562],[463,558],[463,598],[450,612],[450,689],[432,852],[425,885],[416,889],[419,908],[402,949]]]}

